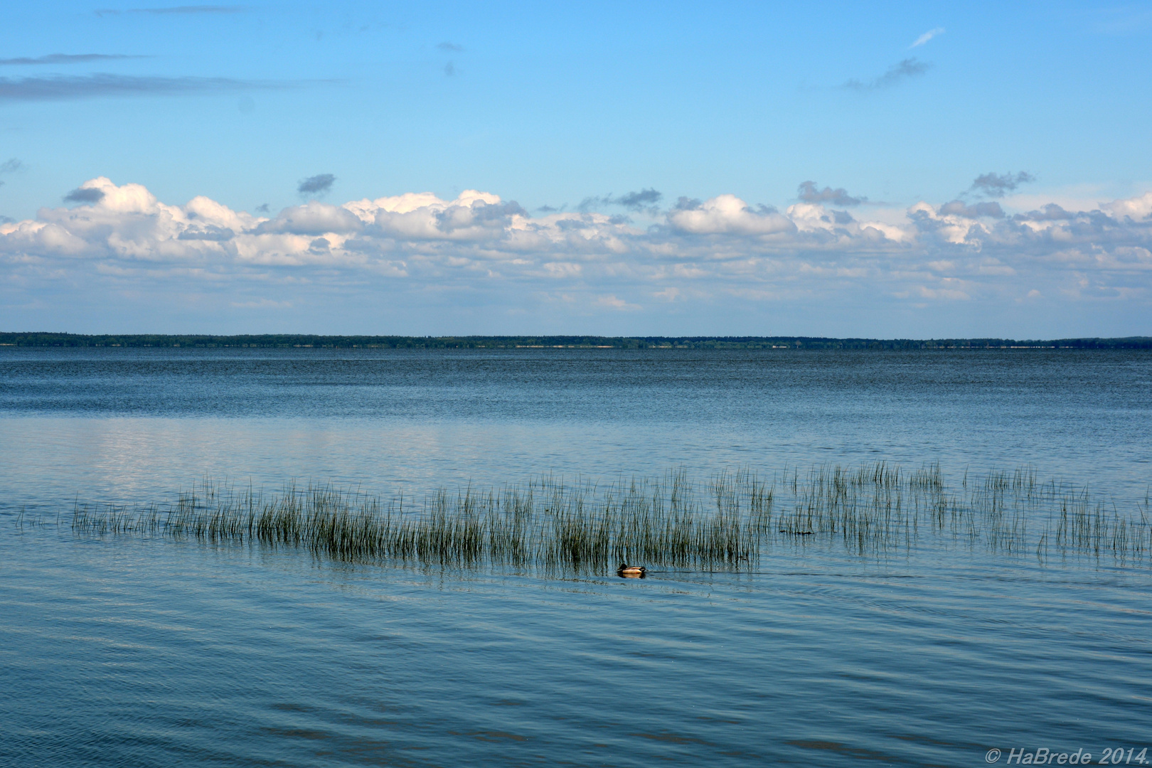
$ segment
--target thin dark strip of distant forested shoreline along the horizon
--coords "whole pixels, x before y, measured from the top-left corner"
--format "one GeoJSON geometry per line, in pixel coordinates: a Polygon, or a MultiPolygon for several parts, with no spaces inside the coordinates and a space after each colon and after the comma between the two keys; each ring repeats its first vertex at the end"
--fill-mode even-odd
{"type": "Polygon", "coordinates": [[[0,333],[2,347],[194,347],[367,349],[1152,349],[1152,336],[1124,339],[825,339],[820,336],[317,336],[309,334],[0,333]]]}

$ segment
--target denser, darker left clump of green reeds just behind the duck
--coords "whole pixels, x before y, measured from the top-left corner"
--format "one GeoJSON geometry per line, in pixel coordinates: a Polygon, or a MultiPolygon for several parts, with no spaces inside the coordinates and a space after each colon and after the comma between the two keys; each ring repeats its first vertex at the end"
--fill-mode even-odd
{"type": "Polygon", "coordinates": [[[77,532],[151,533],[210,542],[298,547],[336,560],[426,564],[482,562],[605,570],[620,562],[725,567],[755,558],[772,516],[772,492],[755,474],[719,474],[707,499],[685,472],[617,482],[553,477],[478,492],[439,489],[419,507],[332,486],[264,494],[205,481],[162,514],[77,507],[77,532]]]}

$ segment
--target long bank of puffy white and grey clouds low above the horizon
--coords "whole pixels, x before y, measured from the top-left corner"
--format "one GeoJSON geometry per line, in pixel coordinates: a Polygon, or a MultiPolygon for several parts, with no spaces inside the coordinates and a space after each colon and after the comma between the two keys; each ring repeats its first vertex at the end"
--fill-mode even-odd
{"type": "Polygon", "coordinates": [[[778,211],[735,195],[682,197],[639,228],[591,211],[530,216],[477,190],[311,200],[253,215],[209,197],[167,204],[141,184],[99,177],[68,195],[71,207],[0,223],[0,290],[113,281],[151,295],[169,281],[180,291],[233,291],[228,301],[241,305],[253,294],[295,303],[302,287],[357,284],[456,291],[493,306],[535,297],[593,313],[1030,295],[1152,304],[1152,192],[1090,211],[1052,203],[1008,215],[996,201],[952,200],[870,207],[871,219],[816,198],[778,211]],[[237,288],[245,284],[247,294],[237,288]]]}

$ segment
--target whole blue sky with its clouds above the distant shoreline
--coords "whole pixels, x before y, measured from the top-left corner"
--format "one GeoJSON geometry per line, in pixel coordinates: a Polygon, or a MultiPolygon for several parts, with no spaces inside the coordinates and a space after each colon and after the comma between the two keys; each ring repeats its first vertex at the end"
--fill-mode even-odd
{"type": "Polygon", "coordinates": [[[1150,50],[1123,2],[16,3],[0,330],[1152,335],[1150,50]]]}

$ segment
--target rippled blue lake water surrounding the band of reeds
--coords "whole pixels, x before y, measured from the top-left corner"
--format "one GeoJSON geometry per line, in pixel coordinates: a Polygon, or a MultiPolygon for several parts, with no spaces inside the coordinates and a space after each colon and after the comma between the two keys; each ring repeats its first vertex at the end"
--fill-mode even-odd
{"type": "Polygon", "coordinates": [[[0,763],[1137,765],[1146,560],[813,542],[635,580],[56,516],[204,477],[418,496],[877,459],[1029,465],[1128,514],[1150,416],[1146,351],[3,349],[0,763]]]}

